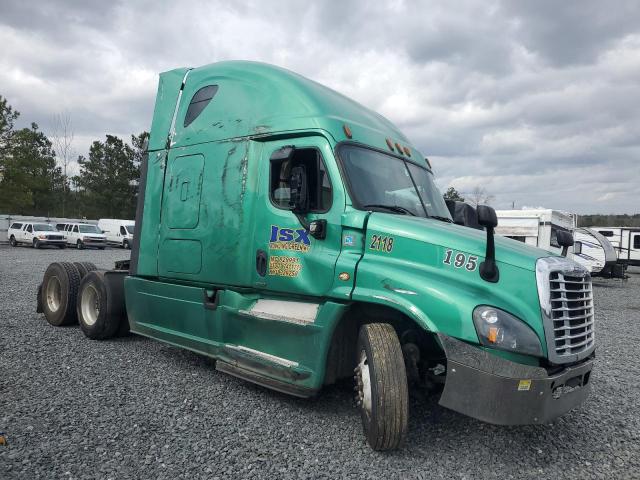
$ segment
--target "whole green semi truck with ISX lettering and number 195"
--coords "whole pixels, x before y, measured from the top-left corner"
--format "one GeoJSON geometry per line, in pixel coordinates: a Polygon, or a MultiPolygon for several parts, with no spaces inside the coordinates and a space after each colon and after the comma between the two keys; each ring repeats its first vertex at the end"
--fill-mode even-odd
{"type": "Polygon", "coordinates": [[[130,261],[51,264],[51,324],[128,328],[300,397],[354,377],[377,450],[402,444],[410,386],[503,425],[588,395],[588,272],[494,238],[490,207],[454,223],[429,160],[349,98],[253,62],[162,73],[141,168],[130,261]]]}

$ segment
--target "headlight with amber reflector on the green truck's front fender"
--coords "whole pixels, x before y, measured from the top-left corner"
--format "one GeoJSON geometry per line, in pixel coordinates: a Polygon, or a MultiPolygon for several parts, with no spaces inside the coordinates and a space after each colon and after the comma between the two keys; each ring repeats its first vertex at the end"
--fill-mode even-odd
{"type": "Polygon", "coordinates": [[[473,311],[480,343],[487,347],[542,356],[540,339],[522,320],[495,307],[480,305],[473,311]]]}

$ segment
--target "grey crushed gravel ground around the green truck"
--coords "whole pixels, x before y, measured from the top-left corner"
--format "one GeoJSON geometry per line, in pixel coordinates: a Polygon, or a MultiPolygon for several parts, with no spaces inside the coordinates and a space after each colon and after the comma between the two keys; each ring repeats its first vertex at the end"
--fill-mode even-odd
{"type": "Polygon", "coordinates": [[[507,428],[414,395],[406,447],[376,453],[349,385],[296,399],[190,352],[90,341],[35,313],[50,262],[110,268],[128,253],[0,245],[1,479],[640,478],[640,270],[594,282],[598,359],[581,409],[507,428]]]}

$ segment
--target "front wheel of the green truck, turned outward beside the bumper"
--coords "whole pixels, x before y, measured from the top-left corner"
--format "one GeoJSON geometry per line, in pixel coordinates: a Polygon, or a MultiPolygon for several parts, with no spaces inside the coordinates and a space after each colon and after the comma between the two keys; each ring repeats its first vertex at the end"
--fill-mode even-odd
{"type": "Polygon", "coordinates": [[[409,417],[409,389],[398,335],[388,323],[360,328],[355,369],[357,403],[367,442],[374,450],[402,445],[409,417]]]}

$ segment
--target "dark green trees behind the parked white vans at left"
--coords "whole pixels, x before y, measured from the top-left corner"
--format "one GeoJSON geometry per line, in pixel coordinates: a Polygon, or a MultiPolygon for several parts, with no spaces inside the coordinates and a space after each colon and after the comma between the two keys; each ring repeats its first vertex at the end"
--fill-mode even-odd
{"type": "Polygon", "coordinates": [[[73,131],[58,117],[47,137],[36,123],[16,129],[20,112],[0,95],[0,213],[75,218],[134,218],[147,132],[91,144],[69,176],[73,131]]]}

